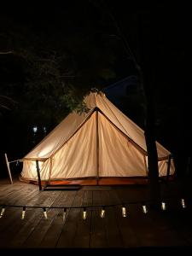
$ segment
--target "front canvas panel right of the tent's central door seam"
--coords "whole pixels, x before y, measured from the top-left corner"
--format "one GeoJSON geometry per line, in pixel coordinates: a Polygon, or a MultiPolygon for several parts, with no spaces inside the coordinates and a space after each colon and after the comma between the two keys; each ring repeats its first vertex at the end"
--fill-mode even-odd
{"type": "Polygon", "coordinates": [[[99,113],[99,176],[146,176],[143,154],[99,113]]]}

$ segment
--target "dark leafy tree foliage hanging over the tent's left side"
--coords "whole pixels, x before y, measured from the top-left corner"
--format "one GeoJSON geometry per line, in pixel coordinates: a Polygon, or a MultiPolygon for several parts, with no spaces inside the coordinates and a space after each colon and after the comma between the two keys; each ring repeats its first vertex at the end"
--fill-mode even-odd
{"type": "Polygon", "coordinates": [[[111,37],[111,20],[94,4],[48,4],[46,11],[26,5],[22,12],[1,16],[0,49],[12,51],[7,64],[0,56],[6,73],[3,93],[18,102],[23,118],[29,114],[32,123],[49,123],[54,116],[59,122],[72,109],[84,109],[80,102],[92,87],[101,89],[118,79],[125,52],[119,39],[111,37]]]}

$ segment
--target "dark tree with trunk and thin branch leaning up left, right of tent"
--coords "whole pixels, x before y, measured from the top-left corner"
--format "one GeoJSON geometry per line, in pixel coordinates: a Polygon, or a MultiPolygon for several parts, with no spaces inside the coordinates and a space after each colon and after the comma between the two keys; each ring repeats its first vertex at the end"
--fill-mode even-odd
{"type": "MultiPolygon", "coordinates": [[[[105,6],[102,2],[102,5],[105,6]]],[[[108,6],[110,6],[108,4],[108,6]]],[[[108,7],[105,7],[106,9],[109,9],[108,7]]],[[[115,9],[115,8],[114,8],[115,9]]],[[[117,11],[114,11],[114,15],[112,12],[108,13],[111,16],[114,26],[117,28],[117,32],[119,33],[119,36],[123,38],[125,48],[127,49],[127,54],[132,58],[133,64],[137,68],[137,75],[141,81],[141,85],[143,87],[143,93],[145,95],[145,139],[146,139],[146,146],[147,146],[147,152],[148,152],[148,178],[149,178],[149,188],[150,188],[150,197],[153,201],[154,205],[156,205],[156,202],[160,201],[160,184],[159,184],[159,169],[158,169],[158,156],[157,156],[157,149],[155,144],[155,135],[154,135],[154,111],[153,111],[153,102],[152,102],[152,95],[151,95],[151,86],[150,86],[150,79],[147,79],[148,76],[146,76],[146,73],[149,73],[149,70],[145,68],[146,61],[145,61],[145,55],[143,55],[143,52],[146,50],[143,48],[143,45],[140,45],[140,49],[142,49],[141,52],[137,53],[140,54],[140,61],[141,61],[141,67],[138,65],[138,62],[136,61],[135,56],[133,55],[128,42],[128,36],[126,36],[122,31],[125,31],[127,29],[127,25],[124,25],[123,22],[121,22],[121,26],[123,26],[123,29],[119,26],[119,16],[117,11]],[[116,15],[116,16],[115,16],[116,15]]],[[[122,9],[120,9],[122,11],[122,9]]],[[[140,17],[137,16],[137,19],[140,19],[140,17]]],[[[140,20],[139,20],[140,21],[140,20]]],[[[145,21],[142,20],[141,23],[145,21]]],[[[136,28],[136,27],[135,27],[136,28]]],[[[140,40],[143,43],[144,37],[143,36],[143,27],[139,27],[139,36],[140,40]]],[[[138,28],[137,28],[138,29],[138,28]]],[[[146,36],[146,35],[145,35],[146,36]]],[[[146,65],[147,66],[147,65],[146,65]]]]}

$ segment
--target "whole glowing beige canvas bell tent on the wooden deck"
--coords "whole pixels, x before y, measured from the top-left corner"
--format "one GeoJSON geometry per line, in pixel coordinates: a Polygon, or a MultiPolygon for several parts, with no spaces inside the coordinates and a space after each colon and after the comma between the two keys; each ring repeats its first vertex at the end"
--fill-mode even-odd
{"type": "MultiPolygon", "coordinates": [[[[148,153],[144,131],[120,112],[102,92],[84,98],[87,113],[70,113],[23,158],[21,179],[38,181],[36,160],[42,181],[94,180],[148,177],[148,153]]],[[[167,166],[174,173],[170,152],[156,143],[159,176],[167,166]]]]}

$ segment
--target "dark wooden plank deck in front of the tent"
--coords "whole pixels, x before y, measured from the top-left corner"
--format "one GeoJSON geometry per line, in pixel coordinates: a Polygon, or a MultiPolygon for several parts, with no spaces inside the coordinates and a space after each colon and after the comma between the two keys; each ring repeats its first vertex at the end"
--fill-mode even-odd
{"type": "MultiPolygon", "coordinates": [[[[138,248],[189,247],[192,245],[191,206],[181,207],[182,190],[175,183],[161,184],[162,198],[167,199],[167,210],[148,207],[144,214],[140,202],[148,201],[147,185],[82,186],[79,190],[39,191],[38,186],[14,181],[0,182],[0,206],[67,207],[48,208],[48,219],[42,208],[26,208],[21,219],[20,207],[6,207],[0,218],[0,248],[138,248]],[[123,218],[121,205],[126,206],[123,218]],[[100,217],[106,207],[105,218],[100,217]],[[77,207],[77,208],[75,208],[77,207]],[[87,208],[87,219],[82,219],[82,208],[87,208]]],[[[0,207],[1,210],[1,207],[0,207]]],[[[1,251],[1,249],[0,249],[1,251]]]]}

